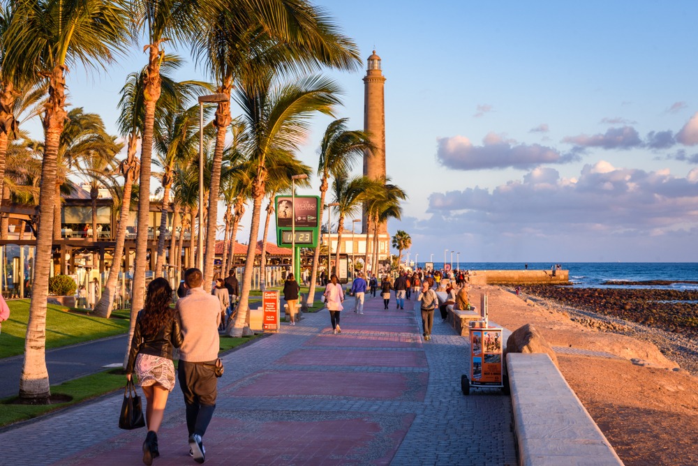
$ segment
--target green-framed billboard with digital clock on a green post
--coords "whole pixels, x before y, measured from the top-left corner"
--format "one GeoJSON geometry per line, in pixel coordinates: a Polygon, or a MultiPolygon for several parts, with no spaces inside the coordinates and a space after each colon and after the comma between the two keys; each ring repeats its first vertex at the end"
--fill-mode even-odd
{"type": "Polygon", "coordinates": [[[283,196],[274,198],[276,204],[276,246],[292,248],[296,280],[300,276],[300,248],[318,247],[319,196],[283,196]]]}

